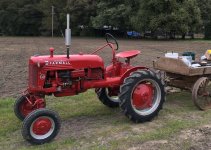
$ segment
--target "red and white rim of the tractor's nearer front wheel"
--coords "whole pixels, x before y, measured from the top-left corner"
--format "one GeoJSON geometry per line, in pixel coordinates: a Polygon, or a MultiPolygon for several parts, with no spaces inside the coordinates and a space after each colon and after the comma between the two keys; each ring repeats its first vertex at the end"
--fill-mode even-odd
{"type": "Polygon", "coordinates": [[[52,118],[42,116],[34,120],[30,127],[30,135],[38,140],[46,139],[55,130],[55,122],[52,118]]]}

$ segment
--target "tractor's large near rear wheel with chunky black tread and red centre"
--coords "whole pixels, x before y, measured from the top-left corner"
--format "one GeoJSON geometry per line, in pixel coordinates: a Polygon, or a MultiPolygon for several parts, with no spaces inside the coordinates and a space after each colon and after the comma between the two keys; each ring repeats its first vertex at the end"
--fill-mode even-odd
{"type": "Polygon", "coordinates": [[[150,121],[165,101],[164,83],[152,71],[133,72],[120,88],[120,107],[134,122],[150,121]]]}

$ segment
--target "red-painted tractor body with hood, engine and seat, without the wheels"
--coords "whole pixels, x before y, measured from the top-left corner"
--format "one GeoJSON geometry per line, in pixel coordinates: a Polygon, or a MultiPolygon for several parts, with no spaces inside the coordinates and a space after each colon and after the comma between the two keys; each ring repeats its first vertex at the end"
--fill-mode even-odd
{"type": "MultiPolygon", "coordinates": [[[[74,54],[69,58],[66,55],[53,55],[53,51],[50,48],[50,56],[32,56],[29,59],[28,93],[31,95],[72,96],[90,88],[107,87],[112,89],[109,92],[111,95],[117,96],[120,85],[131,72],[146,69],[130,65],[130,59],[140,51],[131,50],[116,55],[111,43],[98,48],[92,54],[74,54]],[[111,48],[112,58],[108,67],[104,66],[100,56],[95,55],[105,47],[111,48]],[[121,62],[120,57],[126,58],[125,62],[121,62]]],[[[25,104],[23,112],[26,108],[28,105],[25,104]]]]}

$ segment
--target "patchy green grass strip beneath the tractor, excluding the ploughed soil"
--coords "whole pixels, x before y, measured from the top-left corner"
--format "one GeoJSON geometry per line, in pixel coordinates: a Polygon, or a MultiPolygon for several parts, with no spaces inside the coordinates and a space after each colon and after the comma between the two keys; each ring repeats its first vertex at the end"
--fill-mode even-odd
{"type": "MultiPolygon", "coordinates": [[[[210,123],[211,111],[199,111],[190,93],[167,96],[164,108],[151,122],[134,124],[119,110],[102,105],[93,90],[73,97],[47,97],[47,107],[62,118],[55,140],[34,146],[23,140],[22,123],[13,113],[13,98],[0,100],[0,149],[127,149],[147,141],[176,138],[180,131],[210,123]]],[[[188,141],[182,142],[189,147],[188,141]]]]}

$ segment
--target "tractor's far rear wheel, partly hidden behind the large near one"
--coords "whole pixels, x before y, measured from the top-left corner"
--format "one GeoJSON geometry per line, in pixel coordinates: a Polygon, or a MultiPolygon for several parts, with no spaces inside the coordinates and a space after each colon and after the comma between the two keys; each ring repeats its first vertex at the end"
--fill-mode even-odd
{"type": "MultiPolygon", "coordinates": [[[[96,89],[95,92],[97,93],[97,96],[99,100],[108,107],[119,107],[119,98],[118,96],[109,96],[112,89],[109,88],[99,88],[96,89]]],[[[115,89],[114,89],[115,90],[115,89]]]]}

